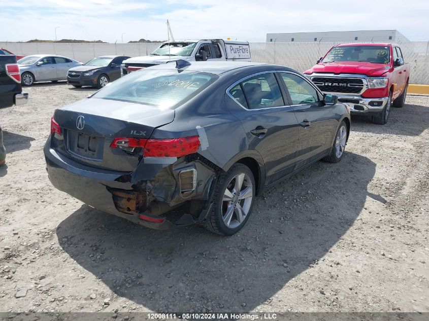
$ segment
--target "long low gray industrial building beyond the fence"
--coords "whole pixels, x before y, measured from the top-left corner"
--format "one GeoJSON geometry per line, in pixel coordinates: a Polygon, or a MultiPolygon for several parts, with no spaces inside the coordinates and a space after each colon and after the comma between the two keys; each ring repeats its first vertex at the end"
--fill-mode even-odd
{"type": "Polygon", "coordinates": [[[267,42],[393,42],[409,40],[398,30],[267,33],[267,42]]]}

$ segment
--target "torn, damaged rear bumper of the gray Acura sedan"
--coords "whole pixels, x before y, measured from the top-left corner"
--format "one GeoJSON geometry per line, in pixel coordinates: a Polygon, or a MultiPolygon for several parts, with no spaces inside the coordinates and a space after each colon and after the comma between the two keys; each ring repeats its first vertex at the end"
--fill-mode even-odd
{"type": "Polygon", "coordinates": [[[50,148],[44,154],[52,185],[82,202],[152,229],[203,223],[210,210],[216,170],[197,157],[173,164],[140,164],[134,172],[119,172],[77,163],[50,148]],[[197,210],[174,210],[188,200],[197,210]],[[195,207],[195,206],[194,206],[195,207]]]}

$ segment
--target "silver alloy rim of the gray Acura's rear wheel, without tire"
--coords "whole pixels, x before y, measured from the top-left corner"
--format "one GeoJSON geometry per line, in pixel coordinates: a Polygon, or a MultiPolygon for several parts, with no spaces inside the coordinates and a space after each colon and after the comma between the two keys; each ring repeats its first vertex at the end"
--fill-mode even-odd
{"type": "Polygon", "coordinates": [[[222,220],[230,229],[240,226],[249,214],[253,199],[253,185],[245,173],[238,173],[229,181],[222,198],[222,220]]]}

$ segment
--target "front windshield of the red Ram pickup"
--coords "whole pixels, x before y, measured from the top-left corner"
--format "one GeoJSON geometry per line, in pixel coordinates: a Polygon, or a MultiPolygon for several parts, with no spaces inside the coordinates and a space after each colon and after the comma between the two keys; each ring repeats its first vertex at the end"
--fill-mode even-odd
{"type": "Polygon", "coordinates": [[[322,62],[360,61],[388,64],[390,50],[387,46],[341,46],[332,48],[322,62]]]}

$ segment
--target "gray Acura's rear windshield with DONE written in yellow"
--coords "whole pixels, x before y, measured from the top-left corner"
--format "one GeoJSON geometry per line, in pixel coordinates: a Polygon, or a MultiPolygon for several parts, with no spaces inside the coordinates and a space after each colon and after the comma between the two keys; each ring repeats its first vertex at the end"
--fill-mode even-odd
{"type": "Polygon", "coordinates": [[[142,69],[95,93],[92,98],[129,101],[173,108],[212,84],[218,76],[177,69],[142,69]]]}

